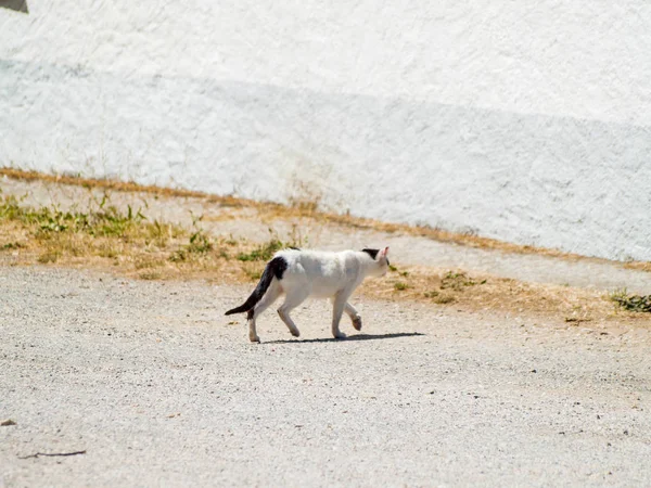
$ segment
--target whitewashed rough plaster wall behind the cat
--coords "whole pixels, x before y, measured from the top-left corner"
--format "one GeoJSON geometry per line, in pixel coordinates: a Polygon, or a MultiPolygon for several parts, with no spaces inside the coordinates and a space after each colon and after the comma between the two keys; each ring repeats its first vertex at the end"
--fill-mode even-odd
{"type": "Polygon", "coordinates": [[[31,0],[0,165],[651,260],[651,7],[31,0]]]}

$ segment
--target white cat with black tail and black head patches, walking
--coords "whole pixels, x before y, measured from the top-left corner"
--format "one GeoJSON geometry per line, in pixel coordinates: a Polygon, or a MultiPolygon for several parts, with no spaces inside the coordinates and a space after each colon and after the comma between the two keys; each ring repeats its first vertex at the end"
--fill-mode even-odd
{"type": "Polygon", "coordinates": [[[361,317],[348,303],[348,297],[367,277],[383,277],[388,270],[388,247],[380,249],[343,251],[327,253],[289,248],[280,251],[267,264],[263,277],[246,301],[226,312],[247,312],[248,339],[259,343],[255,329],[256,319],[284,293],[284,304],[278,314],[294,337],[301,332],[290,317],[307,297],[331,298],[332,335],[345,338],[340,321],[346,312],[353,326],[361,330],[361,317]]]}

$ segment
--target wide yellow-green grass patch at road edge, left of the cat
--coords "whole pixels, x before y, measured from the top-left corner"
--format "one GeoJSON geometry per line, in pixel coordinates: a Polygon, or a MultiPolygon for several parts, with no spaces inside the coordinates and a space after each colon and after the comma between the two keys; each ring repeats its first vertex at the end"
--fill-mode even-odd
{"type": "Polygon", "coordinates": [[[144,280],[209,278],[246,282],[259,278],[283,243],[264,245],[150,221],[142,209],[126,211],[104,198],[81,210],[33,208],[0,194],[0,257],[13,264],[99,267],[144,280]]]}

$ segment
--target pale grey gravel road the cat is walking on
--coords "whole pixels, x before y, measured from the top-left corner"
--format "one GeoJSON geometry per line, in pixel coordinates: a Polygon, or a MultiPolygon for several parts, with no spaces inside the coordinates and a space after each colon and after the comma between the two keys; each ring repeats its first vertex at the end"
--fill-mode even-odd
{"type": "Polygon", "coordinates": [[[651,483],[643,328],[358,299],[252,345],[247,292],[0,267],[0,487],[651,483]]]}

